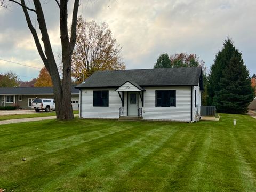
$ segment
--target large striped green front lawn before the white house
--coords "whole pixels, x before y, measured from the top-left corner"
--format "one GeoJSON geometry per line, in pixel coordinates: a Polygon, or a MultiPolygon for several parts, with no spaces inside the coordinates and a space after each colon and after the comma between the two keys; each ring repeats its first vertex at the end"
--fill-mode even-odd
{"type": "Polygon", "coordinates": [[[199,123],[46,120],[1,125],[0,142],[7,191],[256,190],[256,119],[247,115],[199,123]]]}

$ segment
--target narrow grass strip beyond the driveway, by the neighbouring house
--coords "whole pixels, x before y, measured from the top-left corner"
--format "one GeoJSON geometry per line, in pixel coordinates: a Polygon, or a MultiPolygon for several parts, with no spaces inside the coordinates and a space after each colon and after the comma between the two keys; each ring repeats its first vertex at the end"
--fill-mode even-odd
{"type": "MultiPolygon", "coordinates": [[[[74,110],[73,113],[78,114],[79,111],[74,110]]],[[[33,117],[49,117],[49,116],[55,116],[55,115],[56,115],[55,111],[51,111],[47,113],[44,111],[40,111],[34,114],[0,115],[0,121],[9,120],[9,119],[33,118],[33,117]]]]}

